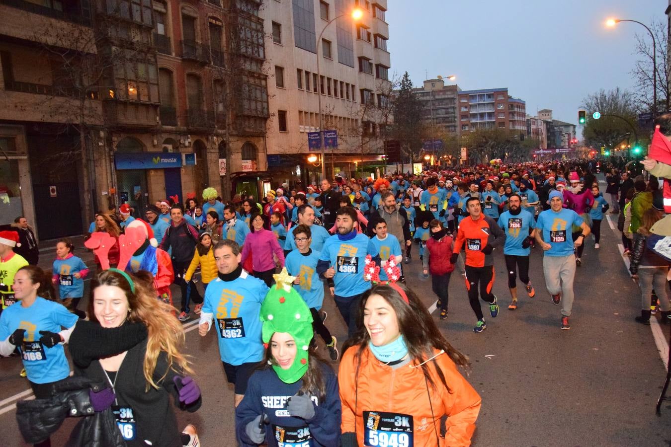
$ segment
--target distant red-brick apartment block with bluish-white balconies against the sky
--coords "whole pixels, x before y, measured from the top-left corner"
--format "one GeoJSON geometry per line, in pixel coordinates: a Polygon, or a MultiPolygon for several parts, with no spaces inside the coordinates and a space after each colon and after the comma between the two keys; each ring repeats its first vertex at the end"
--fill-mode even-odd
{"type": "Polygon", "coordinates": [[[526,105],[508,94],[507,88],[462,90],[459,97],[460,132],[476,129],[509,129],[526,133],[526,105]]]}

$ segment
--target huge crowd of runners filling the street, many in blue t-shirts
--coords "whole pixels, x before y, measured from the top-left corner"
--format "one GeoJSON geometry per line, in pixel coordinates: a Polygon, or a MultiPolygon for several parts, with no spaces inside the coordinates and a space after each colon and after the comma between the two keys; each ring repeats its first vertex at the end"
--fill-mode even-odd
{"type": "Polygon", "coordinates": [[[85,242],[95,266],[61,239],[51,271],[36,266],[36,238],[19,216],[0,232],[0,354],[21,356],[36,397],[19,403],[21,433],[49,446],[54,415],[74,405],[89,414],[68,445],[95,436],[98,445],[198,446],[195,427],[178,430],[170,395],[180,410],[201,405],[180,324],[199,318],[200,336],[215,332],[235,391],[241,446],[470,445],[480,396],[442,323],[466,318],[449,312],[452,273],[464,273],[475,334],[501,308],[539,294],[569,330],[582,254],[600,249],[611,213],[641,289],[635,320],[668,324],[669,261],[650,245],[664,193],[652,174],[671,176],[671,167],[492,160],[376,180],[338,176],[305,190],[284,184],[230,202],[207,188],[202,200],[100,212],[85,242]],[[529,279],[531,250],[543,253],[544,284],[529,279]],[[411,263],[431,277],[437,319],[404,273],[411,263]],[[505,265],[509,296],[493,294],[495,265],[505,265]],[[348,328],[340,344],[324,300],[348,328]]]}

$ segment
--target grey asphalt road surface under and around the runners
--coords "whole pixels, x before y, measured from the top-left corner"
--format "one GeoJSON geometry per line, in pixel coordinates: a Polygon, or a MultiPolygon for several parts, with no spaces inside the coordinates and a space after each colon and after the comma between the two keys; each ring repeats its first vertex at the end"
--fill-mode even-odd
{"type": "MultiPolygon", "coordinates": [[[[536,296],[521,294],[515,311],[507,310],[503,255],[495,256],[494,292],[501,312],[497,318],[486,318],[487,328],[480,334],[472,332],[476,320],[461,272],[453,274],[450,317],[439,320],[437,312],[433,315],[448,340],[472,362],[468,380],[482,396],[474,445],[670,445],[671,401],[662,405],[661,418],[654,413],[666,376],[660,350],[668,353],[664,343],[669,340],[669,326],[651,326],[658,333],[658,348],[651,327],[633,320],[639,314],[637,285],[625,269],[619,236],[609,229],[607,220],[602,234],[599,250],[594,249],[592,237],[586,241],[583,264],[576,273],[570,330],[559,328],[560,308],[545,290],[540,249],[531,253],[536,296]]],[[[53,252],[42,256],[46,265],[52,257],[53,252]]],[[[431,282],[421,278],[416,251],[411,265],[404,268],[409,287],[423,297],[427,308],[435,309],[431,282]]],[[[333,301],[325,300],[324,309],[326,325],[344,341],[346,327],[333,301]]],[[[483,310],[487,314],[484,306],[483,310]]],[[[180,427],[197,426],[206,447],[235,446],[233,389],[225,382],[214,332],[201,338],[195,324],[185,324],[187,349],[203,390],[203,407],[193,414],[177,411],[178,422],[180,427]]],[[[19,359],[0,359],[0,418],[4,418],[0,444],[5,446],[26,445],[13,409],[17,399],[31,394],[26,380],[19,377],[20,370],[19,359]]],[[[52,437],[52,445],[64,445],[75,422],[66,421],[52,437]]]]}

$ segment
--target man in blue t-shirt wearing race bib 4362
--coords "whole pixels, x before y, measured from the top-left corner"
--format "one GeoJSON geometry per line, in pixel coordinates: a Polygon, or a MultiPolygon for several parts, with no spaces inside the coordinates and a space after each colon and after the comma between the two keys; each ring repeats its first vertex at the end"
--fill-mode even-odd
{"type": "Polygon", "coordinates": [[[236,406],[247,389],[247,381],[263,359],[260,310],[268,286],[249,275],[240,263],[240,246],[223,239],[214,247],[217,279],[205,291],[198,332],[213,326],[217,331],[219,355],[229,383],[235,384],[236,406]]]}

